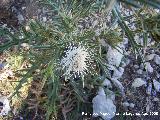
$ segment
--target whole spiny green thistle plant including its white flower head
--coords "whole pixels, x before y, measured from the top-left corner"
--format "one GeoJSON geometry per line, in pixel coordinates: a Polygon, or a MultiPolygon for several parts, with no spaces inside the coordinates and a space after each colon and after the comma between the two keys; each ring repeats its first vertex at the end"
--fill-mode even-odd
{"type": "MultiPolygon", "coordinates": [[[[111,79],[107,61],[103,56],[105,44],[116,47],[125,36],[131,43],[133,52],[143,57],[141,54],[143,46],[136,43],[134,32],[126,24],[126,19],[130,16],[123,17],[118,7],[121,2],[132,6],[136,6],[136,3],[141,5],[142,2],[140,0],[134,2],[129,0],[40,0],[40,2],[55,13],[52,23],[30,20],[27,29],[22,27],[15,34],[3,30],[5,31],[3,37],[7,39],[7,42],[0,45],[0,51],[15,46],[16,52],[23,55],[28,63],[26,69],[18,69],[22,77],[12,96],[18,94],[20,88],[27,84],[28,80],[33,81],[33,76],[38,74],[43,78],[41,79],[43,81],[41,92],[44,89],[42,94],[45,94],[45,98],[42,101],[45,104],[42,106],[46,111],[46,120],[60,119],[59,111],[63,113],[64,119],[76,120],[79,119],[77,116],[82,111],[92,111],[89,99],[93,98],[92,90],[97,91],[106,78],[111,79]],[[89,27],[89,25],[81,29],[83,25],[80,20],[92,15],[102,17],[102,20],[98,21],[98,26],[100,26],[98,32],[96,27],[89,27]],[[106,25],[104,21],[107,16],[111,16],[112,20],[106,25]],[[102,39],[104,39],[104,44],[100,42],[102,39]],[[24,45],[27,45],[26,49],[24,45]],[[68,94],[70,96],[64,100],[68,94]]],[[[152,1],[145,3],[159,8],[152,1]]],[[[144,19],[145,24],[150,21],[152,19],[144,19]]],[[[154,24],[151,27],[156,26],[154,24]]],[[[119,81],[112,82],[123,88],[119,81]]],[[[39,96],[40,93],[36,99],[41,99],[39,96]]]]}

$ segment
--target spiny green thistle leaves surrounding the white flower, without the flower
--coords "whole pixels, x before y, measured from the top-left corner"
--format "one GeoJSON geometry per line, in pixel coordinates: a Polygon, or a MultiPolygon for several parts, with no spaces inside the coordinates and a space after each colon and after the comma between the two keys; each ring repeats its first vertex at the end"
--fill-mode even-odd
{"type": "MultiPolygon", "coordinates": [[[[126,0],[122,2],[129,3],[132,6],[137,6],[135,3],[138,2],[142,4],[144,0],[136,0],[135,2],[126,0]]],[[[59,110],[62,108],[62,106],[60,106],[60,102],[62,100],[60,94],[61,91],[63,92],[64,90],[64,85],[62,84],[70,86],[67,86],[69,88],[68,91],[74,91],[71,98],[74,98],[77,101],[73,111],[70,112],[70,114],[66,113],[67,115],[64,115],[64,118],[76,118],[75,112],[80,113],[84,109],[84,111],[87,111],[88,109],[91,111],[91,108],[87,109],[85,107],[85,102],[87,100],[85,100],[86,95],[84,95],[84,92],[88,92],[86,94],[90,96],[91,91],[93,89],[97,90],[98,86],[101,85],[101,83],[98,82],[100,81],[98,79],[100,71],[104,73],[105,77],[110,77],[106,61],[101,56],[101,45],[98,40],[100,38],[107,38],[106,43],[111,46],[116,46],[122,40],[122,36],[119,36],[116,30],[108,31],[108,28],[104,28],[101,34],[96,37],[96,32],[93,29],[84,29],[80,32],[78,31],[79,20],[96,12],[102,13],[102,16],[105,16],[114,8],[112,11],[112,16],[118,21],[119,26],[128,37],[130,43],[132,44],[134,53],[141,56],[140,49],[142,46],[135,42],[133,32],[126,25],[124,18],[120,14],[120,10],[116,7],[116,5],[118,5],[116,1],[41,0],[41,3],[49,6],[53,13],[55,13],[52,24],[44,24],[31,20],[28,23],[29,30],[22,27],[21,30],[15,34],[11,34],[7,30],[4,32],[4,30],[1,29],[3,31],[1,32],[1,36],[5,36],[7,42],[0,45],[0,51],[7,50],[15,45],[18,50],[20,50],[24,58],[30,63],[30,67],[25,70],[26,72],[23,74],[22,79],[17,85],[13,96],[18,94],[19,89],[28,81],[29,78],[32,78],[33,73],[36,70],[40,70],[44,77],[43,80],[46,81],[44,85],[47,95],[46,104],[44,105],[47,111],[46,119],[58,119],[59,110]],[[22,43],[26,43],[28,45],[28,49],[23,50],[21,47],[22,43]],[[76,45],[83,43],[90,49],[95,49],[93,52],[94,63],[96,64],[95,71],[92,72],[92,74],[85,76],[85,78],[79,78],[78,81],[75,81],[74,78],[70,78],[65,81],[66,78],[64,76],[62,77],[64,71],[61,69],[62,66],[59,64],[67,45],[70,43],[74,43],[76,45]],[[83,81],[83,79],[85,80],[83,81]],[[83,82],[85,83],[84,85],[87,90],[83,89],[83,82]],[[82,109],[81,106],[84,106],[84,109],[82,109]],[[76,107],[77,109],[75,109],[76,107]]],[[[159,5],[157,4],[158,2],[150,1],[145,3],[159,8],[159,5]]],[[[143,21],[144,25],[152,23],[148,26],[147,32],[150,32],[154,37],[159,35],[159,24],[156,24],[159,23],[158,18],[159,15],[151,16],[143,21]],[[153,31],[149,31],[150,28],[152,28],[153,31]]],[[[69,101],[67,102],[70,103],[69,101]]],[[[91,103],[89,102],[88,104],[91,103]]]]}

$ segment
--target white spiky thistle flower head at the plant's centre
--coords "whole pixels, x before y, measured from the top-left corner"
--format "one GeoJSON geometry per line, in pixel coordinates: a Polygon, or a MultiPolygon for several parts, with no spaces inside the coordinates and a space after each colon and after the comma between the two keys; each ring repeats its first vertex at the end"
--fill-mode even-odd
{"type": "Polygon", "coordinates": [[[66,51],[65,57],[61,60],[61,65],[62,69],[65,70],[64,75],[83,76],[88,71],[90,62],[90,53],[84,46],[79,45],[76,47],[70,45],[66,51]]]}

